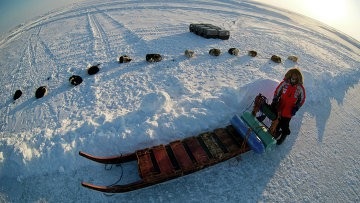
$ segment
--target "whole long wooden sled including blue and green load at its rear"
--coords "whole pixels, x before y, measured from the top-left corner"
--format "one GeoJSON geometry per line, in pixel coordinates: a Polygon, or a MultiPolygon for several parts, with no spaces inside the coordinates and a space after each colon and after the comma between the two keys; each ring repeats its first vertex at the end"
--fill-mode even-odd
{"type": "MultiPolygon", "coordinates": [[[[257,99],[259,96],[261,95],[258,95],[257,99]]],[[[263,104],[264,102],[255,102],[252,113],[244,112],[240,117],[235,115],[231,119],[231,125],[225,128],[176,140],[166,145],[109,157],[93,156],[80,151],[80,156],[101,164],[133,161],[137,164],[140,178],[123,185],[100,186],[87,182],[81,184],[106,193],[129,192],[199,171],[250,150],[255,153],[271,150],[276,140],[267,131],[268,128],[255,117],[256,112],[263,109],[263,104]]]]}

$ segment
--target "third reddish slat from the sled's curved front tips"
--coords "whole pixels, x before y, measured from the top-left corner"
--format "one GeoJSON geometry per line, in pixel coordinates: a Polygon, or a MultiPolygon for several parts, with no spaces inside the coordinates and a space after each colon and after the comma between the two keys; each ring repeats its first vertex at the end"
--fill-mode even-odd
{"type": "Polygon", "coordinates": [[[191,158],[189,157],[186,149],[181,141],[174,141],[170,143],[170,147],[174,152],[174,156],[183,171],[190,170],[194,167],[191,158]]]}

